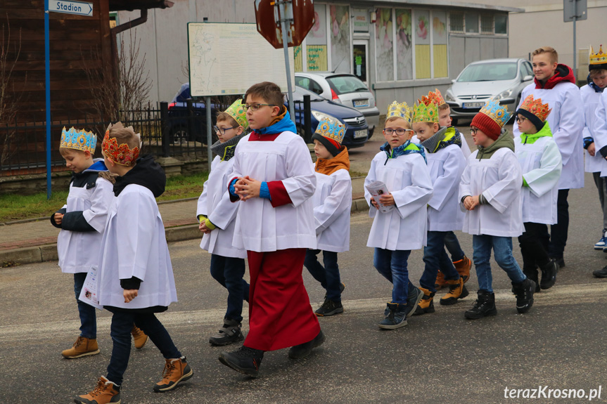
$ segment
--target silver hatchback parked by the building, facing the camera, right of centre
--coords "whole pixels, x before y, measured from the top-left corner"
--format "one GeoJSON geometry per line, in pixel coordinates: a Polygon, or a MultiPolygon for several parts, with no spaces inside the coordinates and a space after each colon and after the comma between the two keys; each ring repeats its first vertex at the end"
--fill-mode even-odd
{"type": "Polygon", "coordinates": [[[473,118],[492,97],[514,112],[520,92],[532,79],[531,63],[525,59],[490,59],[469,64],[445,93],[454,124],[458,118],[473,118]]]}

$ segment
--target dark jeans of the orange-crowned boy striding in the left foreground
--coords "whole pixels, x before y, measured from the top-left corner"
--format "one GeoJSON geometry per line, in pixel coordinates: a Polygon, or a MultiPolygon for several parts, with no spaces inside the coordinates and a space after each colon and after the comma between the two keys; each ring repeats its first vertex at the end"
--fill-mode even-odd
{"type": "Polygon", "coordinates": [[[131,330],[133,323],[141,328],[165,359],[181,358],[165,326],[153,313],[136,313],[135,311],[116,311],[112,316],[110,335],[114,346],[110,365],[108,365],[108,380],[115,384],[122,384],[122,376],[129,365],[131,355],[131,330]]]}

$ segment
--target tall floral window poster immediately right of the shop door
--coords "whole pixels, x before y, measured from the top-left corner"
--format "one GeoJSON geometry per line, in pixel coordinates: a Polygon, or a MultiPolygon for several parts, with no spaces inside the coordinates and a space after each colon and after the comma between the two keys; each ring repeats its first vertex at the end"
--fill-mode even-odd
{"type": "Polygon", "coordinates": [[[394,80],[394,37],[392,8],[378,8],[375,22],[376,79],[394,80]]]}

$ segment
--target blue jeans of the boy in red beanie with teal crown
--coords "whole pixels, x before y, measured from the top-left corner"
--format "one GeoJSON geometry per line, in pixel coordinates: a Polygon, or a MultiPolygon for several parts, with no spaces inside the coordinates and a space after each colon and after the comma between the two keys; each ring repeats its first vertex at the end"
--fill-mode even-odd
{"type": "Polygon", "coordinates": [[[476,266],[476,278],[478,278],[478,289],[493,292],[493,278],[491,276],[491,249],[497,265],[508,274],[513,283],[523,282],[525,274],[512,255],[512,237],[499,237],[497,235],[473,235],[472,245],[474,247],[474,265],[476,266]]]}

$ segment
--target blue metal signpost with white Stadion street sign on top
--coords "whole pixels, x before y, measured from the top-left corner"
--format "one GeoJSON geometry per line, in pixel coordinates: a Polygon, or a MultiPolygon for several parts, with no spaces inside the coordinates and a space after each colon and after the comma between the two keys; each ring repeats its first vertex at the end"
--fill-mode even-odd
{"type": "Polygon", "coordinates": [[[51,44],[49,12],[93,15],[93,4],[84,1],[44,0],[44,74],[46,76],[46,199],[51,199],[51,44]]]}

